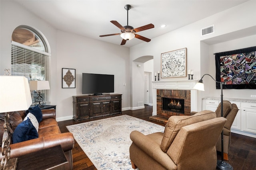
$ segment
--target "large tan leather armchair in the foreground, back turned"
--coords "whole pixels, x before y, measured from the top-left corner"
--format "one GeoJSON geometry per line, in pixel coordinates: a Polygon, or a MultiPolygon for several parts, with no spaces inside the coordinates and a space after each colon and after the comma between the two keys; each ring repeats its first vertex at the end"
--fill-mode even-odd
{"type": "Polygon", "coordinates": [[[132,131],[130,159],[140,170],[215,170],[216,143],[226,123],[212,111],[171,116],[164,133],[132,131]]]}

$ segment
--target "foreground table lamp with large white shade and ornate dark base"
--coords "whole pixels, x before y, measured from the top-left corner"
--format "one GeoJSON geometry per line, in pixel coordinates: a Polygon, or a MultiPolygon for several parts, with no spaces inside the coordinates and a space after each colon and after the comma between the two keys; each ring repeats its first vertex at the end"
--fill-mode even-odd
{"type": "Polygon", "coordinates": [[[0,114],[4,119],[1,169],[5,169],[11,154],[12,129],[7,112],[26,110],[32,104],[28,79],[24,76],[0,76],[0,114]]]}

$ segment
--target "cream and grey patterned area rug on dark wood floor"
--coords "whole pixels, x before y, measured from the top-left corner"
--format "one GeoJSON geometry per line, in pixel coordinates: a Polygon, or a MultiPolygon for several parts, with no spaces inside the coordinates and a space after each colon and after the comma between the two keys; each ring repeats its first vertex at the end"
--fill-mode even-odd
{"type": "Polygon", "coordinates": [[[148,135],[164,131],[163,126],[129,115],[70,125],[67,128],[98,170],[133,170],[129,154],[132,144],[130,133],[136,130],[148,135]]]}

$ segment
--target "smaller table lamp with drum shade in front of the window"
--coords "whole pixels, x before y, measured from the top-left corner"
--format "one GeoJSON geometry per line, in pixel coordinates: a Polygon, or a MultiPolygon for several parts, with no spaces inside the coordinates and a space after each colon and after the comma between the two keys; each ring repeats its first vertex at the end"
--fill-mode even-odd
{"type": "Polygon", "coordinates": [[[49,86],[49,81],[40,81],[40,80],[36,80],[36,81],[30,81],[29,82],[29,87],[30,90],[38,90],[38,96],[36,98],[36,101],[38,100],[38,106],[39,107],[44,107],[44,98],[42,97],[42,94],[40,92],[40,90],[48,90],[50,89],[49,86]],[[40,102],[42,101],[43,104],[40,104],[40,102]]]}

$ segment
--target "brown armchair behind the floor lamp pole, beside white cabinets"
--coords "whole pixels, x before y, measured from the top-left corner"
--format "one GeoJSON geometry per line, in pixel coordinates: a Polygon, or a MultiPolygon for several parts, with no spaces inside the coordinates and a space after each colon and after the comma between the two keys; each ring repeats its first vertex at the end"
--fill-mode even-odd
{"type": "MultiPolygon", "coordinates": [[[[234,122],[237,112],[238,107],[236,104],[231,104],[228,100],[223,100],[223,117],[227,119],[227,122],[223,128],[223,151],[225,160],[228,160],[231,136],[230,128],[234,122]]],[[[216,117],[221,117],[221,104],[219,104],[215,113],[216,117]]],[[[216,144],[216,150],[221,152],[221,135],[216,144]]]]}

